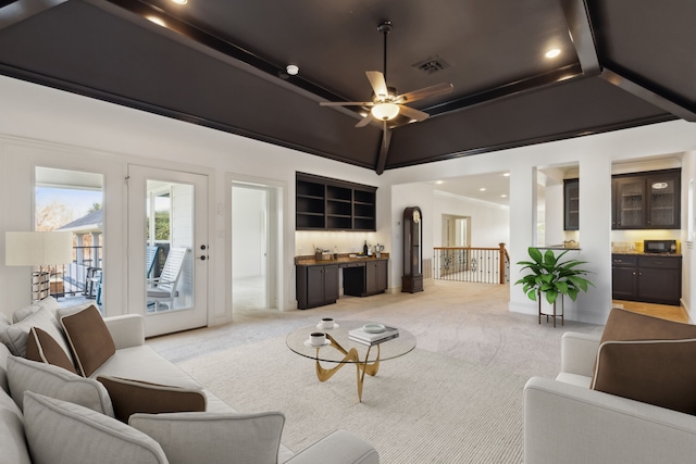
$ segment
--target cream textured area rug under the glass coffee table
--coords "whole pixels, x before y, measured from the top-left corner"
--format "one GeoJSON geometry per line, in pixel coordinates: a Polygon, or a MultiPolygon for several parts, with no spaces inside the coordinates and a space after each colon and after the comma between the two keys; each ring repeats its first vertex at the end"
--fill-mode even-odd
{"type": "Polygon", "coordinates": [[[320,383],[284,337],[178,365],[240,412],[282,411],[283,442],[296,452],[343,428],[387,464],[522,462],[520,375],[417,348],[365,377],[361,403],[355,366],[320,383]]]}

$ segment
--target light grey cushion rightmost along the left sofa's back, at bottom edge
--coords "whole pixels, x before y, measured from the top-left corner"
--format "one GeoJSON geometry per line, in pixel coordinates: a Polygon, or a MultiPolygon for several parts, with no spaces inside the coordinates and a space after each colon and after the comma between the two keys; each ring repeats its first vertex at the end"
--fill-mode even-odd
{"type": "Polygon", "coordinates": [[[160,443],[173,464],[226,464],[231,456],[235,463],[277,464],[285,416],[277,412],[134,414],[128,424],[160,443]]]}

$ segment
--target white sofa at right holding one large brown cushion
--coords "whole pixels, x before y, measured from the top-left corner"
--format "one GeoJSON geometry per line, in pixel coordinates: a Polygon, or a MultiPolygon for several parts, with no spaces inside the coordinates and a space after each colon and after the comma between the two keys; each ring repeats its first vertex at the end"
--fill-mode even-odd
{"type": "Polygon", "coordinates": [[[561,373],[527,381],[524,463],[696,462],[696,416],[589,388],[599,342],[563,334],[561,373]]]}

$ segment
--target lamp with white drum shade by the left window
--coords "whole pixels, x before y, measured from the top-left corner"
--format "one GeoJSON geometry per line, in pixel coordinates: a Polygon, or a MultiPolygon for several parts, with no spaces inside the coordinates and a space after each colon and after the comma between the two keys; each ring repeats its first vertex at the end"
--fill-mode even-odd
{"type": "Polygon", "coordinates": [[[69,231],[8,231],[4,234],[4,264],[7,266],[38,266],[32,273],[32,302],[50,293],[50,272],[45,265],[67,264],[73,261],[73,233],[69,231]]]}

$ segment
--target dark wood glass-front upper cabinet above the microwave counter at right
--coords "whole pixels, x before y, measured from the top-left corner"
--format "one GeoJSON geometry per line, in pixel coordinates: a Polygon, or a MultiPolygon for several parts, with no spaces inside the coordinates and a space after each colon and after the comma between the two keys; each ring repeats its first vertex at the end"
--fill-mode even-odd
{"type": "Polygon", "coordinates": [[[612,229],[681,227],[681,170],[613,176],[611,188],[612,229]]]}

